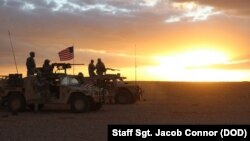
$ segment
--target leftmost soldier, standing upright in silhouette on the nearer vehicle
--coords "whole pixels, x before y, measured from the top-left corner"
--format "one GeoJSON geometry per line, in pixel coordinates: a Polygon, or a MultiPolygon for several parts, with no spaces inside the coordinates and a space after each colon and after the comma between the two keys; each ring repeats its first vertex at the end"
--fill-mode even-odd
{"type": "Polygon", "coordinates": [[[27,76],[31,76],[35,74],[36,63],[35,63],[35,52],[30,52],[30,57],[26,60],[26,67],[27,67],[27,76]]]}

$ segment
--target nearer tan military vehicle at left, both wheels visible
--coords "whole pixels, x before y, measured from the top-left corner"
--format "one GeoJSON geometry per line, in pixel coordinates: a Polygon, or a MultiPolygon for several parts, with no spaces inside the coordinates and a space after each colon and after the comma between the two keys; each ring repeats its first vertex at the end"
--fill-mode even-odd
{"type": "MultiPolygon", "coordinates": [[[[56,64],[69,68],[69,64],[56,64]]],[[[39,70],[39,69],[38,69],[39,70]]],[[[23,111],[30,107],[41,110],[45,104],[69,104],[75,113],[99,110],[103,104],[103,90],[94,83],[80,83],[81,78],[65,73],[50,76],[37,74],[22,78],[21,74],[9,74],[0,78],[0,103],[10,111],[23,111]]]]}

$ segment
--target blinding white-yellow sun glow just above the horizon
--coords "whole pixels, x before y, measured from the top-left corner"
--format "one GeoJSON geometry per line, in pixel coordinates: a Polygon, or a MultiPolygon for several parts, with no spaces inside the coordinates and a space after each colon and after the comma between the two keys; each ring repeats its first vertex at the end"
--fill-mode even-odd
{"type": "Polygon", "coordinates": [[[229,56],[224,52],[200,49],[173,56],[155,57],[158,66],[146,68],[155,79],[165,81],[241,81],[246,74],[235,70],[202,68],[226,64],[229,56]]]}

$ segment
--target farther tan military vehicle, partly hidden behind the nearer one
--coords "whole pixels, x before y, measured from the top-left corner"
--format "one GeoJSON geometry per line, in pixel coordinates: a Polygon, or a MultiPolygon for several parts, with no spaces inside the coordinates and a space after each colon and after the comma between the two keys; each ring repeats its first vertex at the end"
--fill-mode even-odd
{"type": "Polygon", "coordinates": [[[143,90],[136,82],[125,82],[126,77],[122,77],[120,73],[105,74],[91,79],[101,83],[104,88],[105,103],[133,104],[142,98],[143,90]]]}

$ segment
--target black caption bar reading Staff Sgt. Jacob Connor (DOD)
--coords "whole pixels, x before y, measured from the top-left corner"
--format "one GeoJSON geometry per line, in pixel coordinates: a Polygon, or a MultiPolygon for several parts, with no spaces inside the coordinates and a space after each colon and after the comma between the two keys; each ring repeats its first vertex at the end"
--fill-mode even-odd
{"type": "Polygon", "coordinates": [[[249,141],[250,125],[108,125],[108,141],[166,139],[249,141]]]}

